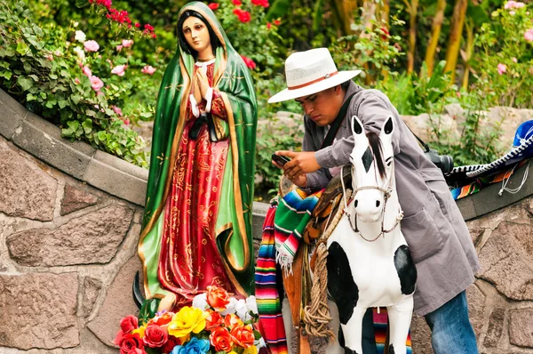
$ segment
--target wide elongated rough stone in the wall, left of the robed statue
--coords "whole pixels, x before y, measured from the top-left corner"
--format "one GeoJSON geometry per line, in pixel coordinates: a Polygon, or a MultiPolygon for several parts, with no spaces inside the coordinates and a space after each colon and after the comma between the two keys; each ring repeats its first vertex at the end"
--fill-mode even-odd
{"type": "Polygon", "coordinates": [[[28,229],[6,238],[13,261],[29,267],[107,263],[130,229],[133,211],[109,205],[59,229],[28,229]]]}

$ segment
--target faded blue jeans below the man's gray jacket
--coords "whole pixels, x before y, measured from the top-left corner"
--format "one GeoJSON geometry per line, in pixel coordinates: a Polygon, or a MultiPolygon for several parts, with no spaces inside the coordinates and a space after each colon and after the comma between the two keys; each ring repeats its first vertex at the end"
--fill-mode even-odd
{"type": "Polygon", "coordinates": [[[466,292],[428,313],[426,322],[431,329],[431,343],[435,354],[477,354],[477,344],[470,319],[466,292]]]}

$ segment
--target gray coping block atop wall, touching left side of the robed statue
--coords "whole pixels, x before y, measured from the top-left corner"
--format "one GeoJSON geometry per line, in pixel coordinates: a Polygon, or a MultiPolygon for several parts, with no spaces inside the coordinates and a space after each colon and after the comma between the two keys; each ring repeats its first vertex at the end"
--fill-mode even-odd
{"type": "Polygon", "coordinates": [[[113,159],[110,157],[104,152],[97,151],[87,166],[83,180],[116,197],[144,206],[147,194],[147,179],[144,179],[144,172],[139,171],[137,166],[122,161],[118,157],[113,157],[113,159]],[[115,163],[109,165],[110,160],[115,163]],[[128,168],[124,168],[123,164],[126,164],[128,168]]]}

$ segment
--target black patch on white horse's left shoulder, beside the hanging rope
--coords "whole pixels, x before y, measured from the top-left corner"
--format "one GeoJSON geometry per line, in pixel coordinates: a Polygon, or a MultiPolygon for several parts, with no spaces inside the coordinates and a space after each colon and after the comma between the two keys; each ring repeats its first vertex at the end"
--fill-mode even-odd
{"type": "Polygon", "coordinates": [[[337,304],[340,323],[346,325],[354,314],[359,289],[354,282],[348,257],[338,242],[332,242],[328,248],[327,268],[328,291],[337,304]]]}

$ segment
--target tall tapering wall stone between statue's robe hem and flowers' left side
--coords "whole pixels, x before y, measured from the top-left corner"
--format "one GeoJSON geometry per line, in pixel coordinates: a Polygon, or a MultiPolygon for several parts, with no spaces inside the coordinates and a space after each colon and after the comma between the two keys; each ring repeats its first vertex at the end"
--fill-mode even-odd
{"type": "Polygon", "coordinates": [[[137,255],[134,255],[123,265],[111,286],[107,288],[106,298],[98,316],[87,324],[99,341],[108,346],[114,345],[113,340],[120,329],[121,318],[139,314],[131,295],[131,286],[137,271],[142,274],[142,266],[137,255]]]}

